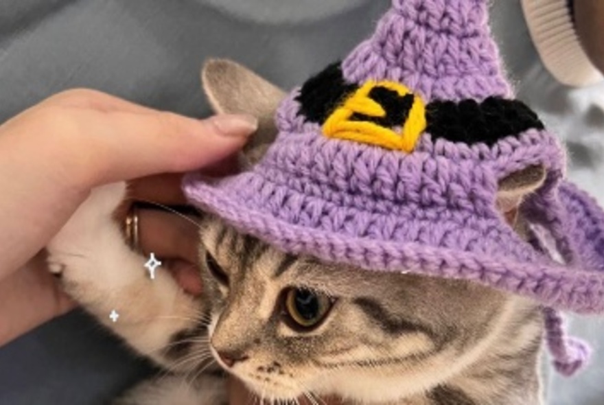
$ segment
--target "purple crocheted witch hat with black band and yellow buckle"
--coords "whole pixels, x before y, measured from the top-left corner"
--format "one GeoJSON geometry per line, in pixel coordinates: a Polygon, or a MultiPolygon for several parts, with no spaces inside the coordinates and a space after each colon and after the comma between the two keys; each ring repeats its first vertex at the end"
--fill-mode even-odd
{"type": "MultiPolygon", "coordinates": [[[[513,99],[486,0],[393,0],[369,40],[290,94],[277,126],[252,170],[189,177],[189,199],[290,253],[604,311],[604,213],[564,181],[561,146],[513,99]],[[498,192],[535,167],[546,178],[521,206],[526,241],[498,192]]],[[[585,358],[560,334],[548,343],[563,373],[585,358]]]]}

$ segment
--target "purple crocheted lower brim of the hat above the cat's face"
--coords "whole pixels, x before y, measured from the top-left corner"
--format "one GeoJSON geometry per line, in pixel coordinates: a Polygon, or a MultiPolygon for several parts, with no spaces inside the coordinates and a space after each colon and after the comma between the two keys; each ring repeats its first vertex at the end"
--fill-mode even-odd
{"type": "MultiPolygon", "coordinates": [[[[191,174],[185,178],[183,187],[194,205],[216,214],[238,231],[253,235],[281,251],[312,255],[325,262],[367,270],[467,279],[538,300],[553,308],[579,313],[604,310],[604,277],[601,273],[582,268],[569,270],[568,266],[561,266],[538,253],[519,237],[515,237],[513,242],[508,240],[505,244],[501,243],[501,235],[511,232],[504,222],[500,222],[498,229],[488,233],[480,229],[458,229],[460,234],[463,233],[463,238],[480,240],[482,247],[475,251],[432,246],[417,241],[377,240],[371,235],[343,235],[277,218],[267,207],[251,204],[254,198],[246,196],[246,190],[249,192],[253,188],[248,187],[253,181],[250,176],[258,174],[246,172],[220,181],[191,174]],[[499,236],[491,238],[491,235],[499,236]],[[488,246],[488,252],[484,246],[488,246]]],[[[575,218],[594,218],[598,215],[588,212],[588,208],[579,207],[577,199],[572,197],[576,195],[576,189],[567,187],[566,190],[564,200],[567,205],[573,206],[575,218]]],[[[604,216],[600,220],[604,223],[604,216]]],[[[458,223],[439,225],[452,230],[459,227],[458,223]]],[[[430,236],[426,238],[429,240],[430,236]]],[[[604,262],[602,257],[598,261],[604,262]]]]}

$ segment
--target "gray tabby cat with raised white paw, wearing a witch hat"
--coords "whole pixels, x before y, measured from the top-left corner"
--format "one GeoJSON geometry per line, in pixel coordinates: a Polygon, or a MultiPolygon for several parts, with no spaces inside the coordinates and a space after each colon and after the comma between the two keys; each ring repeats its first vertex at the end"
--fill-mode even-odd
{"type": "MultiPolygon", "coordinates": [[[[276,134],[283,93],[224,60],[202,78],[218,112],[259,117],[245,154],[253,163],[276,134]]],[[[500,183],[499,207],[521,234],[522,197],[543,181],[533,167],[500,183]]],[[[211,216],[200,224],[205,290],[194,299],[161,268],[147,277],[146,257],[124,243],[112,213],[126,193],[122,183],[93,190],[48,246],[67,292],[169,371],[117,403],[227,404],[221,370],[267,403],[318,404],[324,395],[367,405],[541,403],[536,303],[467,281],[288,255],[211,216]]]]}

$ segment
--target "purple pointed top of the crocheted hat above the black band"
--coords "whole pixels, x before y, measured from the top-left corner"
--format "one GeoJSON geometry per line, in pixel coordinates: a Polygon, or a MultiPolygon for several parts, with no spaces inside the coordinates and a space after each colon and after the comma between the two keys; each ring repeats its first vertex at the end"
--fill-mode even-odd
{"type": "Polygon", "coordinates": [[[344,76],[399,82],[426,101],[510,97],[487,12],[486,0],[393,0],[344,76]]]}

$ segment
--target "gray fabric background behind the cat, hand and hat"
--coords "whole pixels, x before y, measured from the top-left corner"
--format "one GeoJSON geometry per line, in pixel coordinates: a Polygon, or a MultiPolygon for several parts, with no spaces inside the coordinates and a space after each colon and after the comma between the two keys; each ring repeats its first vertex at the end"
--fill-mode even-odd
{"type": "MultiPolygon", "coordinates": [[[[209,113],[198,69],[229,57],[290,88],[372,30],[387,0],[0,0],[0,122],[86,86],[193,116],[209,113]]],[[[495,0],[493,30],[519,97],[566,139],[570,176],[604,203],[604,86],[571,90],[539,62],[519,0],[495,0]]],[[[2,297],[0,297],[2,305],[2,297]]],[[[601,345],[601,321],[572,319],[601,345]]],[[[0,404],[104,404],[153,373],[73,312],[0,348],[0,404]]],[[[551,405],[603,405],[604,353],[577,378],[548,373],[551,405]]]]}

